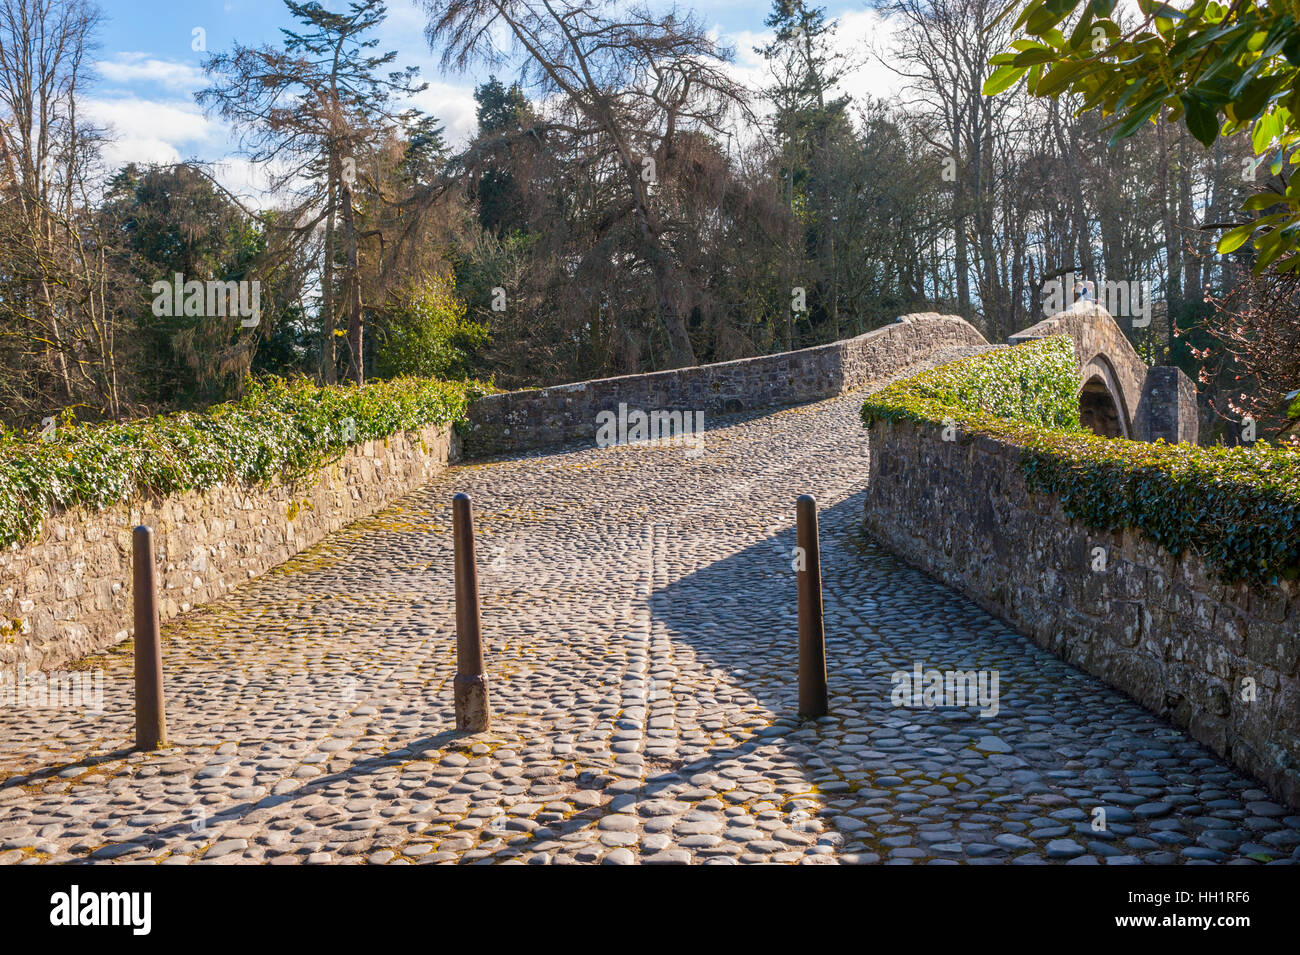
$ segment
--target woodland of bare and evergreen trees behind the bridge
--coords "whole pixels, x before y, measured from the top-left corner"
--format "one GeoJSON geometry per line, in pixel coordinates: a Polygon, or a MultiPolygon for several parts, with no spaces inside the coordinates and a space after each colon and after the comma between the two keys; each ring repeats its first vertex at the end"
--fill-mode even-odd
{"type": "Polygon", "coordinates": [[[874,0],[905,79],[885,101],[842,91],[862,61],[803,0],[775,0],[754,88],[688,12],[426,0],[447,69],[493,56],[488,19],[517,42],[459,151],[403,108],[421,79],[376,45],[384,3],[286,5],[298,26],[213,53],[199,95],[272,175],[252,208],[203,162],[108,168],[112,131],[78,110],[100,12],[0,0],[8,427],[205,407],[257,374],[577,381],[916,311],[1000,342],[1066,273],[1149,285],[1154,320],[1128,331],[1199,381],[1210,440],[1244,413],[1261,435],[1294,425],[1295,281],[1252,275],[1248,244],[1214,251],[1270,179],[1249,139],[1206,149],[1161,118],[1110,146],[1069,95],[982,95],[1000,3],[874,0]],[[176,273],[260,282],[260,324],[153,314],[176,273]]]}

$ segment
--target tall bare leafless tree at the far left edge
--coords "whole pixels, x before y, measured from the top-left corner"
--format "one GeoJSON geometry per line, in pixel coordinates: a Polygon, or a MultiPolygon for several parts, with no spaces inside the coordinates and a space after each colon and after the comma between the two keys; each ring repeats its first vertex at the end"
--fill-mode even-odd
{"type": "Polygon", "coordinates": [[[100,131],[77,109],[99,22],[86,0],[0,3],[0,316],[14,352],[10,408],[121,409],[109,243],[87,185],[100,131]]]}

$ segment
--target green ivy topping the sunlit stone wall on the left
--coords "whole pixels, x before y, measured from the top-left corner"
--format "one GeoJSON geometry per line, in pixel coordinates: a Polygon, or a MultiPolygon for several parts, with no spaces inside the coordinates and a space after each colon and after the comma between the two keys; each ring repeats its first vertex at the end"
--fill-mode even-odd
{"type": "Polygon", "coordinates": [[[56,509],[101,509],[144,494],[294,479],[352,444],[462,420],[476,383],[396,378],[318,387],[261,378],[203,413],[0,431],[0,544],[34,541],[56,509]]]}

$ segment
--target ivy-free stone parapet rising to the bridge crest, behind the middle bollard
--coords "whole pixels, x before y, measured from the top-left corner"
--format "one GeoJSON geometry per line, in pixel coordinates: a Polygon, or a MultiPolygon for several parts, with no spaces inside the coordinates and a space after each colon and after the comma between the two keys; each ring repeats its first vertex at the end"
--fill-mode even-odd
{"type": "Polygon", "coordinates": [[[897,374],[939,348],[988,344],[958,316],[924,312],[842,342],[779,355],[489,395],[469,407],[464,453],[480,457],[594,440],[597,414],[725,414],[818,401],[897,374]]]}

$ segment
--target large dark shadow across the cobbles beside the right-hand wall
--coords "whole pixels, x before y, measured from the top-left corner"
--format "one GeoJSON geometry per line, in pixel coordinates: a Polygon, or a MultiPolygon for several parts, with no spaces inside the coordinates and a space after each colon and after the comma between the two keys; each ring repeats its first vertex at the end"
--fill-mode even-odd
{"type": "MultiPolygon", "coordinates": [[[[792,496],[803,491],[818,494],[814,485],[792,496]]],[[[1209,750],[866,538],[863,498],[819,515],[829,717],[794,719],[788,524],[651,599],[673,643],[748,695],[729,702],[767,715],[751,741],[767,743],[768,759],[797,760],[814,812],[833,833],[826,841],[842,856],[1291,861],[1300,820],[1274,819],[1280,812],[1257,785],[1209,750]],[[893,674],[916,670],[983,672],[996,703],[927,706],[905,694],[896,706],[893,674]]],[[[676,546],[689,551],[708,529],[677,533],[676,546]]],[[[744,793],[744,782],[737,787],[744,793]]],[[[796,804],[806,799],[781,808],[796,804]]]]}

